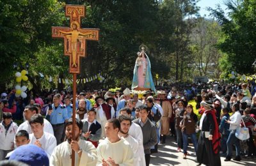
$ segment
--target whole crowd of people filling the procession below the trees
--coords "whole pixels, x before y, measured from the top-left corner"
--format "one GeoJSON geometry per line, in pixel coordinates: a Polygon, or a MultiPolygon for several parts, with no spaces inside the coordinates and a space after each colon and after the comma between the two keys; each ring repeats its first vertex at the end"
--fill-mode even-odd
{"type": "Polygon", "coordinates": [[[129,88],[122,93],[81,91],[76,96],[43,89],[42,94],[26,99],[16,98],[15,91],[2,93],[0,161],[71,165],[74,151],[75,165],[149,165],[150,155],[169,136],[175,138],[177,153],[182,152],[184,160],[190,155],[191,140],[198,165],[221,165],[221,155],[225,161],[253,158],[255,91],[253,84],[212,82],[159,87],[145,92],[143,98],[129,88]],[[195,107],[189,103],[193,99],[195,107]],[[22,123],[18,126],[15,121],[22,123]],[[237,138],[241,126],[249,128],[249,139],[237,138]]]}

